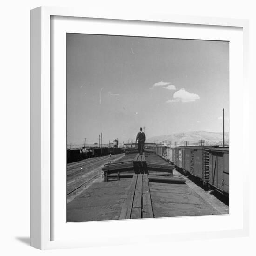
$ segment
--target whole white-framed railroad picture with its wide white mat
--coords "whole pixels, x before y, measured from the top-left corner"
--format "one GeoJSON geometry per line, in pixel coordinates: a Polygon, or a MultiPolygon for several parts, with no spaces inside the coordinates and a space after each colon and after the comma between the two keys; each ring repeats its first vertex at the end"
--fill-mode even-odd
{"type": "Polygon", "coordinates": [[[31,246],[247,236],[248,56],[248,20],[31,10],[31,246]]]}

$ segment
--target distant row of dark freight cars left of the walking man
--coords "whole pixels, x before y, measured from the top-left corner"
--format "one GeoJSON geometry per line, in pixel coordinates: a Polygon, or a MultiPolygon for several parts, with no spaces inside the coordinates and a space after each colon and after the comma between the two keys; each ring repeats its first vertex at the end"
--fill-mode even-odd
{"type": "Polygon", "coordinates": [[[72,148],[67,149],[67,163],[80,161],[85,158],[115,155],[123,153],[122,148],[72,148]]]}

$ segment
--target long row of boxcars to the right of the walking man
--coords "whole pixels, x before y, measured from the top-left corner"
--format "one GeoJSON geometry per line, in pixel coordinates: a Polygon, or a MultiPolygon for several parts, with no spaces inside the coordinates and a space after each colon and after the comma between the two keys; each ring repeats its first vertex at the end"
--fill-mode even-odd
{"type": "Polygon", "coordinates": [[[177,169],[195,176],[210,189],[229,197],[229,147],[155,146],[154,150],[177,169]]]}

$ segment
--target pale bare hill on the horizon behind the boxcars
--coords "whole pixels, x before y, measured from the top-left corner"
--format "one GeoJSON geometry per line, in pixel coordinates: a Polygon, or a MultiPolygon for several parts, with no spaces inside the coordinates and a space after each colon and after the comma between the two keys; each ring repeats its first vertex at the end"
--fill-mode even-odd
{"type": "MultiPolygon", "coordinates": [[[[223,133],[193,131],[185,133],[174,133],[169,135],[155,136],[146,139],[146,142],[162,143],[162,141],[171,141],[172,144],[177,142],[177,145],[184,145],[188,141],[188,145],[198,145],[198,141],[203,139],[204,145],[221,145],[223,143],[223,133]]],[[[229,132],[225,133],[225,144],[229,145],[229,132]]]]}

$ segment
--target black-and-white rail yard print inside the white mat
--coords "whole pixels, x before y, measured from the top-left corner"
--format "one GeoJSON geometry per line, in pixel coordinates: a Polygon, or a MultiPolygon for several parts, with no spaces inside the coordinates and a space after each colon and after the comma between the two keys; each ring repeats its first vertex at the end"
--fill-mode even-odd
{"type": "Polygon", "coordinates": [[[66,218],[229,214],[229,41],[66,34],[66,218]]]}

